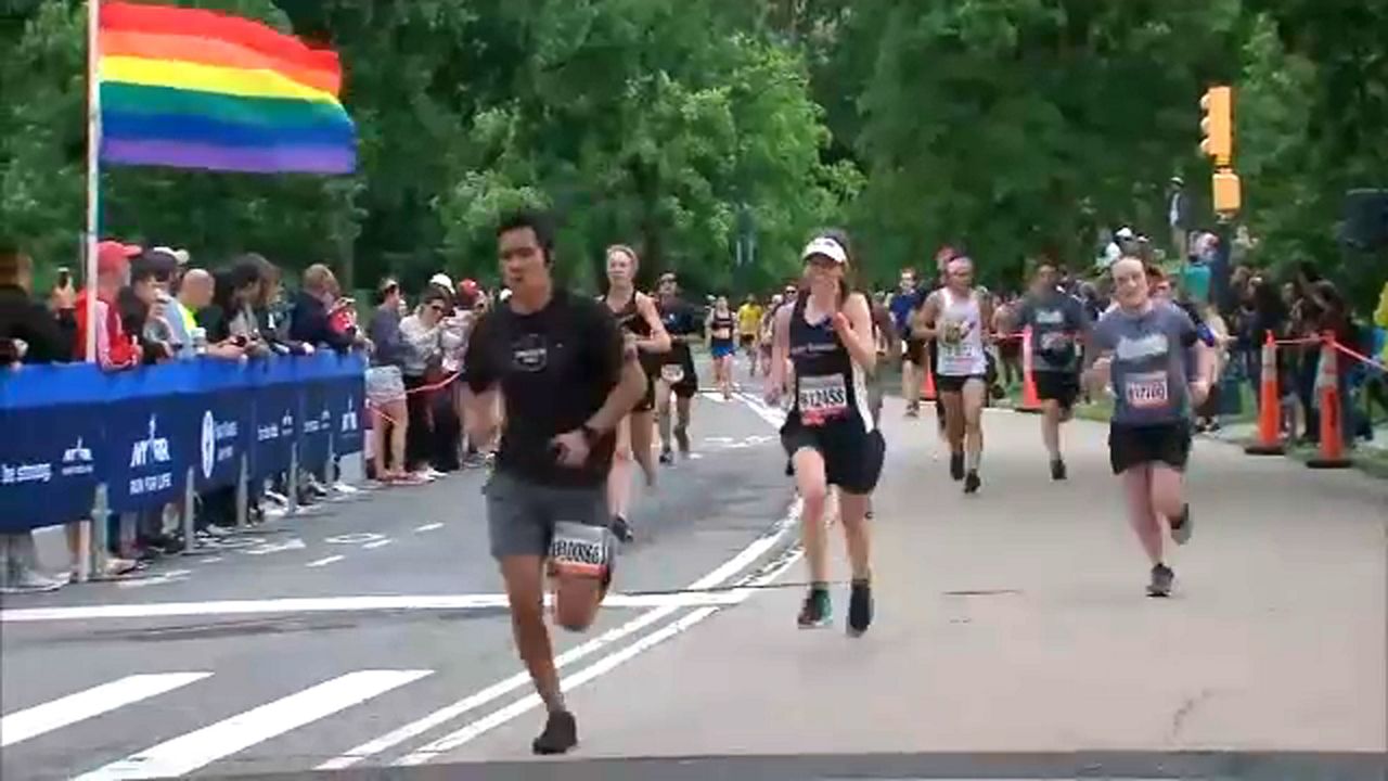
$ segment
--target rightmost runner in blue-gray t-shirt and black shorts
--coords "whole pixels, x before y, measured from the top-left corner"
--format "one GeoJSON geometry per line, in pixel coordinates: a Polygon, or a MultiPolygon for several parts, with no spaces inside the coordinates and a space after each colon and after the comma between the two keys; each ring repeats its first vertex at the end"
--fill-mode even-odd
{"type": "Polygon", "coordinates": [[[1087,381],[1113,389],[1109,461],[1123,477],[1133,528],[1152,561],[1148,595],[1167,596],[1174,573],[1162,556],[1162,521],[1177,545],[1191,536],[1183,472],[1191,453],[1191,409],[1209,395],[1213,353],[1178,307],[1153,300],[1142,261],[1113,264],[1117,307],[1094,327],[1087,381]],[[1195,377],[1185,352],[1195,350],[1195,377]]]}

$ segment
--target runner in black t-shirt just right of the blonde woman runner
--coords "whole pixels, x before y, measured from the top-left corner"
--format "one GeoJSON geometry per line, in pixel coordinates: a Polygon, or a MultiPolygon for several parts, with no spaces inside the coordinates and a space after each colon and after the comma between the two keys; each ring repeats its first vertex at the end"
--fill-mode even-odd
{"type": "Polygon", "coordinates": [[[670,393],[675,393],[675,441],[680,453],[690,452],[690,400],[698,393],[698,374],[694,372],[694,354],[690,345],[701,342],[704,315],[695,307],[680,300],[680,283],[673,274],[663,274],[658,289],[657,307],[661,322],[670,335],[670,352],[657,360],[655,371],[655,414],[661,428],[661,463],[673,464],[670,452],[670,393]]]}

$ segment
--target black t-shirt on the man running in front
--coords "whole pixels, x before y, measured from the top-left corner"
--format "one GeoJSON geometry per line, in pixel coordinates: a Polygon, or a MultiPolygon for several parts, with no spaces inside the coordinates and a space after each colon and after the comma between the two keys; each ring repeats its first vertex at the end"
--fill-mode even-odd
{"type": "Polygon", "coordinates": [[[612,467],[616,438],[604,435],[582,468],[558,463],[551,441],[587,422],[618,385],[622,335],[607,306],[555,290],[540,311],[508,304],[477,321],[464,356],[473,392],[500,384],[507,421],[497,468],[557,488],[598,486],[612,467]]]}

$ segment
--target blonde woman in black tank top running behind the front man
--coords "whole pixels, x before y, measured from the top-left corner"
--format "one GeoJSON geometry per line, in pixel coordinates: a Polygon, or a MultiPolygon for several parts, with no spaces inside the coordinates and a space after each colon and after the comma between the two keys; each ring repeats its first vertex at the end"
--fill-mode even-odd
{"type": "MultiPolygon", "coordinates": [[[[622,245],[608,247],[608,292],[602,296],[608,311],[616,318],[629,347],[641,356],[641,367],[650,365],[648,354],[669,352],[670,336],[665,332],[655,302],[636,290],[636,250],[622,245]]],[[[616,456],[608,472],[608,506],[612,513],[612,534],[623,542],[634,538],[627,521],[632,503],[632,460],[641,466],[647,485],[655,484],[655,381],[647,370],[645,396],[636,404],[616,429],[616,456]]]]}

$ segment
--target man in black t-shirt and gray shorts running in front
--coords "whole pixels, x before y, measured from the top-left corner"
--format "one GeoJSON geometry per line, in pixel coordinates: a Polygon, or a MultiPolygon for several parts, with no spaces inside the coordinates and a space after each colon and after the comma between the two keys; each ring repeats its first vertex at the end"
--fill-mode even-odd
{"type": "Polygon", "coordinates": [[[483,492],[516,648],[550,713],[536,753],[577,743],[544,624],[545,574],[555,581],[555,620],[587,628],[611,582],[613,431],[645,393],[612,314],[555,286],[552,236],[539,214],[501,222],[501,274],[512,295],[477,322],[464,359],[475,442],[491,441],[498,392],[505,403],[497,468],[483,492]]]}

